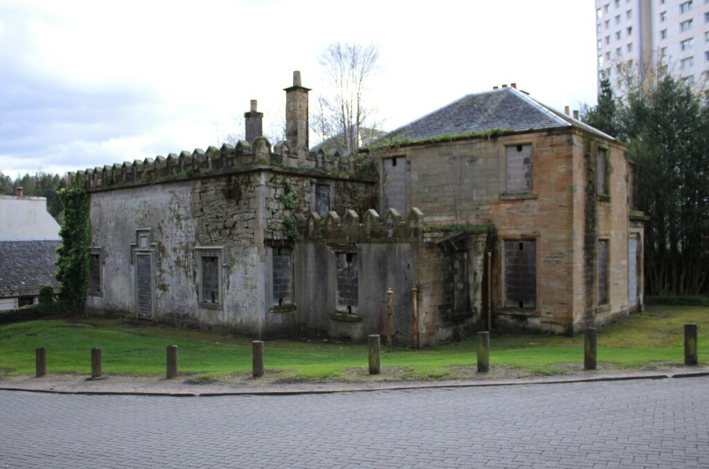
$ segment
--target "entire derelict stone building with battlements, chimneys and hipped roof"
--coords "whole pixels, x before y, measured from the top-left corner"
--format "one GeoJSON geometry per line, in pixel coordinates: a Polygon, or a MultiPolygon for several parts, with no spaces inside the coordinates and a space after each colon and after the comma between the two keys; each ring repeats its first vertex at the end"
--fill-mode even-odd
{"type": "Polygon", "coordinates": [[[613,137],[514,87],[464,96],[359,154],[262,137],[79,171],[87,307],[274,337],[420,345],[487,327],[573,334],[642,306],[642,217],[613,137]],[[413,288],[418,290],[415,291],[413,288]],[[415,298],[415,299],[414,299],[415,298]],[[412,314],[415,301],[417,315],[412,314]]]}

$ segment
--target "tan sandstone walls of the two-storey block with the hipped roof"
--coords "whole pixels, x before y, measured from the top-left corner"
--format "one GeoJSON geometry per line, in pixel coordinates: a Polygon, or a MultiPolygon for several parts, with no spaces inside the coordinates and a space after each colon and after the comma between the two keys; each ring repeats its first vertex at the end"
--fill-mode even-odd
{"type": "MultiPolygon", "coordinates": [[[[605,324],[627,310],[627,162],[622,146],[598,137],[610,149],[612,192],[608,200],[598,198],[596,173],[588,171],[595,159],[589,163],[585,156],[588,138],[569,128],[403,145],[376,156],[385,166],[391,158],[397,159],[396,167],[406,162],[406,189],[398,191],[406,193],[408,206],[425,213],[425,222],[495,227],[494,326],[570,334],[584,321],[605,324]],[[506,164],[515,161],[508,149],[515,147],[531,148],[531,168],[525,166],[530,191],[508,190],[506,164]],[[610,306],[601,310],[595,305],[599,236],[610,240],[610,306]],[[506,241],[533,243],[534,305],[506,305],[506,241]]],[[[386,181],[381,184],[386,191],[386,181]]],[[[453,278],[445,269],[435,275],[453,278]]]]}

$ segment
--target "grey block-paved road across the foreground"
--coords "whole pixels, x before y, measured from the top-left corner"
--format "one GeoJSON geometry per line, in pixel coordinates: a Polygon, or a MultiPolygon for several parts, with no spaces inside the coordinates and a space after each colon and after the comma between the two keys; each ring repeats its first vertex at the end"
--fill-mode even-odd
{"type": "Polygon", "coordinates": [[[0,391],[0,468],[709,468],[709,377],[330,395],[0,391]]]}

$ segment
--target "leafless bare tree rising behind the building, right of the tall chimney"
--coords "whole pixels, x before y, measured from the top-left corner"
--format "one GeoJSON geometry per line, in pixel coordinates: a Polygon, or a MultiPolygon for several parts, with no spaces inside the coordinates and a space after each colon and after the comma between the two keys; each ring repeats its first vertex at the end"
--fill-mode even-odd
{"type": "Polygon", "coordinates": [[[372,130],[379,130],[372,109],[364,103],[367,79],[376,72],[378,59],[379,50],[371,44],[333,43],[323,51],[320,66],[329,93],[317,96],[312,123],[320,145],[334,139],[330,146],[351,152],[373,137],[372,130]]]}

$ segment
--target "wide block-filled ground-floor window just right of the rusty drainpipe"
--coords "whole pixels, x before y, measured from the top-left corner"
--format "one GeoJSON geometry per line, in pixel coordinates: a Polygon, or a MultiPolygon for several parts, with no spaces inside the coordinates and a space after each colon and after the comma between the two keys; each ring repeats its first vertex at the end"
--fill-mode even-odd
{"type": "Polygon", "coordinates": [[[537,307],[537,242],[505,242],[505,306],[537,307]]]}

